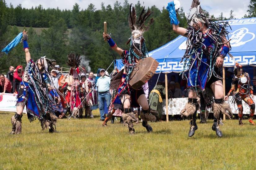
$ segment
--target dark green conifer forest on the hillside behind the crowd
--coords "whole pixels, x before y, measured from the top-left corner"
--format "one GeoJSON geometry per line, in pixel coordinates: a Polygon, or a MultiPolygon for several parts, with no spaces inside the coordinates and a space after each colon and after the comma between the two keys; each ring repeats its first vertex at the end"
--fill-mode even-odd
{"type": "MultiPolygon", "coordinates": [[[[249,15],[245,17],[255,17],[256,0],[251,0],[248,6],[249,15]]],[[[143,6],[140,1],[134,5],[137,15],[143,6]]],[[[17,26],[28,31],[29,48],[32,59],[42,56],[55,59],[60,66],[67,67],[67,55],[78,53],[83,56],[81,63],[87,70],[97,72],[98,68],[107,68],[114,59],[121,57],[115,53],[102,38],[104,32],[103,23],[107,22],[107,32],[112,33],[112,39],[121,48],[129,50],[126,45],[131,31],[128,24],[130,4],[125,0],[123,4],[116,1],[114,8],[111,5],[105,6],[101,3],[101,9],[96,10],[91,3],[85,10],[80,10],[79,4],[75,3],[72,10],[44,9],[42,5],[35,8],[22,8],[21,4],[13,7],[7,6],[5,0],[0,0],[0,47],[3,49],[18,34],[17,26]],[[34,28],[43,29],[38,34],[34,28]],[[71,31],[70,31],[71,30],[71,31]]],[[[155,22],[145,32],[146,47],[148,51],[159,48],[178,36],[172,30],[168,11],[163,8],[159,10],[156,6],[148,7],[147,10],[154,11],[151,17],[155,22]]],[[[234,19],[234,11],[230,11],[230,18],[234,19]]],[[[214,16],[212,16],[214,18],[214,16]]],[[[217,17],[226,20],[222,13],[217,17]]],[[[186,28],[187,21],[181,8],[178,12],[180,27],[186,28]]],[[[0,53],[0,73],[7,73],[10,65],[25,66],[25,54],[21,50],[23,45],[19,43],[8,55],[0,53]]],[[[113,69],[114,65],[110,67],[113,69]]]]}

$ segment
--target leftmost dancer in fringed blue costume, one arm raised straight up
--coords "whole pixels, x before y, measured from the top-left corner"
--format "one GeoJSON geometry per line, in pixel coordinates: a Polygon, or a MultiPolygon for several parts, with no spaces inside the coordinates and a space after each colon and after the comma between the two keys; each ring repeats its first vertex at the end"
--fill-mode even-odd
{"type": "Polygon", "coordinates": [[[52,66],[51,61],[41,57],[34,62],[29,53],[27,43],[28,35],[23,31],[23,46],[26,56],[26,68],[20,82],[20,90],[17,95],[17,112],[11,117],[12,131],[10,134],[21,133],[21,117],[24,107],[27,108],[29,121],[34,121],[38,118],[41,126],[44,129],[49,129],[50,133],[56,132],[53,125],[56,125],[57,117],[51,111],[51,104],[48,94],[53,96],[51,103],[56,105],[60,103],[60,93],[53,85],[49,66],[52,66]]]}

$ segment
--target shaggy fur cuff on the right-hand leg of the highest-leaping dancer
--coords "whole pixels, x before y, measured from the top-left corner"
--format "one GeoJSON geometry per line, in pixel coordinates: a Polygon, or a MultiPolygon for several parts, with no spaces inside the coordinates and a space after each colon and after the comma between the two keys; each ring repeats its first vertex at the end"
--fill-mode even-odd
{"type": "Polygon", "coordinates": [[[228,119],[231,119],[231,117],[233,116],[230,105],[227,103],[217,104],[213,102],[212,109],[213,109],[213,116],[216,118],[219,118],[221,113],[225,114],[228,119]]]}

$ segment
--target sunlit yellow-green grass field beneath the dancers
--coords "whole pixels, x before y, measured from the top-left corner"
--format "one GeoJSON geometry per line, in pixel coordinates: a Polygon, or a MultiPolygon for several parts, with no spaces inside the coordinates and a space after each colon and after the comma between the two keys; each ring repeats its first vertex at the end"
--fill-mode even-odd
{"type": "Polygon", "coordinates": [[[141,123],[136,133],[115,121],[101,125],[99,111],[90,119],[57,121],[59,134],[22,118],[22,134],[9,135],[11,116],[0,112],[0,169],[254,169],[256,126],[224,121],[223,137],[211,130],[213,120],[198,124],[188,137],[189,121],[141,123]]]}

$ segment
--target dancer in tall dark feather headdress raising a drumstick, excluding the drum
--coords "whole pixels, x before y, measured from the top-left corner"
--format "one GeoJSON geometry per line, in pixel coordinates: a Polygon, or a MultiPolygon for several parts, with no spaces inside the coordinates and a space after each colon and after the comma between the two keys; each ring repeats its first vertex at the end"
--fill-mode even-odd
{"type": "MultiPolygon", "coordinates": [[[[103,38],[107,39],[110,47],[122,56],[122,61],[125,66],[123,77],[121,79],[120,86],[118,89],[118,96],[116,98],[120,97],[120,100],[124,106],[122,118],[124,121],[124,125],[126,125],[129,128],[130,134],[135,133],[132,121],[137,121],[135,114],[131,111],[131,105],[133,108],[138,108],[140,106],[142,107],[142,110],[140,112],[141,118],[143,120],[142,126],[145,127],[148,132],[152,132],[153,129],[147,122],[155,121],[155,116],[158,116],[158,112],[156,110],[150,109],[143,89],[139,88],[138,90],[134,90],[129,84],[130,74],[133,68],[136,66],[136,63],[139,60],[146,58],[148,55],[145,40],[143,38],[143,33],[147,31],[149,28],[149,26],[145,26],[144,23],[152,13],[150,13],[149,10],[144,15],[144,12],[145,6],[141,11],[139,19],[137,20],[135,9],[134,7],[132,7],[132,4],[130,5],[130,16],[128,21],[130,29],[132,31],[132,36],[129,40],[131,41],[129,51],[120,49],[111,39],[109,34],[103,33],[103,38]]],[[[153,22],[154,20],[153,18],[151,18],[148,25],[150,25],[153,22]]],[[[115,103],[115,100],[113,103],[115,103]]]]}

